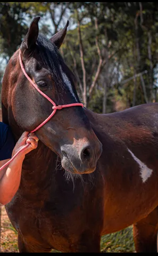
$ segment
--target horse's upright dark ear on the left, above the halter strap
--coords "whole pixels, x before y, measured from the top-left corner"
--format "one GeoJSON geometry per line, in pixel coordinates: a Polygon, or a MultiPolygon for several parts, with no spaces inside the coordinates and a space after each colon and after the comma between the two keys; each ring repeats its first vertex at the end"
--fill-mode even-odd
{"type": "Polygon", "coordinates": [[[40,16],[35,17],[29,27],[27,35],[24,37],[20,50],[22,55],[25,55],[26,53],[30,55],[30,53],[34,50],[36,45],[36,40],[39,33],[38,28],[38,21],[40,19],[40,16]]]}

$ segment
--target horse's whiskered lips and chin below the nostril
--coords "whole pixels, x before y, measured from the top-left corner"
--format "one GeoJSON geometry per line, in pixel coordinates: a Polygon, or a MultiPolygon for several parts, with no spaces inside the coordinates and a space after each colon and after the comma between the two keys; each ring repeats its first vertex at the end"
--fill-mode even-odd
{"type": "Polygon", "coordinates": [[[88,174],[88,173],[94,172],[96,169],[96,166],[88,167],[85,169],[84,166],[82,166],[82,164],[80,164],[80,170],[77,170],[76,167],[74,167],[74,164],[71,162],[71,160],[68,156],[66,156],[66,157],[63,156],[63,158],[61,160],[61,164],[65,171],[68,171],[68,172],[74,173],[74,174],[88,174]]]}

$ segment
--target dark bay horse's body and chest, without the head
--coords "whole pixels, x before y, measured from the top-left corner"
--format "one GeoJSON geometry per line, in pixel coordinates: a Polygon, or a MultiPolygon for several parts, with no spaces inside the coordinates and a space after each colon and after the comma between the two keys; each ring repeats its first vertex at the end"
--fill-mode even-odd
{"type": "Polygon", "coordinates": [[[93,251],[98,250],[101,235],[157,212],[157,110],[157,103],[106,115],[86,109],[103,153],[96,171],[83,174],[83,182],[66,182],[62,169],[52,172],[57,156],[39,142],[37,152],[26,156],[20,188],[6,205],[19,237],[29,246],[36,238],[35,251],[93,251]],[[145,182],[127,148],[153,171],[145,182]]]}

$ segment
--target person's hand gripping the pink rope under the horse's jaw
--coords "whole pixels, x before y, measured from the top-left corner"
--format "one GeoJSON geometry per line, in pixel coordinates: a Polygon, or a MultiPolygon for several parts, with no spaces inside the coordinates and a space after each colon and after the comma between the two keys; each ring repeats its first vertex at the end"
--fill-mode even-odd
{"type": "Polygon", "coordinates": [[[30,143],[30,145],[23,149],[19,155],[25,156],[27,153],[29,153],[31,150],[36,149],[38,146],[38,138],[35,135],[35,133],[29,133],[29,132],[23,132],[19,140],[16,142],[16,145],[13,149],[12,156],[16,154],[21,148],[26,146],[27,143],[30,143]]]}

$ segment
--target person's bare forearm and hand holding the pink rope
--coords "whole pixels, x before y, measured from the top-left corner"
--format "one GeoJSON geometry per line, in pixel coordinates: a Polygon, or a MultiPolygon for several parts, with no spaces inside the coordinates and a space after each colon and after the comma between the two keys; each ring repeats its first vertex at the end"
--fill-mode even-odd
{"type": "MultiPolygon", "coordinates": [[[[18,142],[16,142],[12,152],[12,157],[23,146],[25,146],[26,143],[30,143],[30,145],[21,151],[21,153],[19,153],[19,155],[17,155],[13,161],[0,172],[0,203],[4,205],[11,201],[19,188],[22,163],[25,155],[31,150],[37,148],[38,141],[36,140],[38,140],[38,138],[34,133],[30,133],[29,137],[28,134],[29,132],[23,132],[18,142]]],[[[9,161],[9,159],[0,161],[0,167],[7,161],[9,161]]]]}

